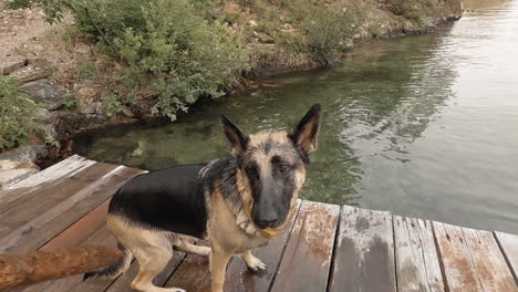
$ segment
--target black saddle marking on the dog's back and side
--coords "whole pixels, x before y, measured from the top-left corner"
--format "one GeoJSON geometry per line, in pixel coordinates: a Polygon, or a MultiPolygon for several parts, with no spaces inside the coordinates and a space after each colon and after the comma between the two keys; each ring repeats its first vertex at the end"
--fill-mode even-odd
{"type": "Polygon", "coordinates": [[[198,174],[206,165],[177,166],[134,177],[113,196],[108,212],[146,228],[204,238],[207,209],[198,174]]]}

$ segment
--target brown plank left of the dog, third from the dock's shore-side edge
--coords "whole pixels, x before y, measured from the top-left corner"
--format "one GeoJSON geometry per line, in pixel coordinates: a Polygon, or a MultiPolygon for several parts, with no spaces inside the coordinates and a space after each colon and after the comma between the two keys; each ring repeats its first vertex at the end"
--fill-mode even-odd
{"type": "Polygon", "coordinates": [[[101,205],[141,170],[120,166],[99,180],[0,239],[0,252],[35,249],[101,205]]]}

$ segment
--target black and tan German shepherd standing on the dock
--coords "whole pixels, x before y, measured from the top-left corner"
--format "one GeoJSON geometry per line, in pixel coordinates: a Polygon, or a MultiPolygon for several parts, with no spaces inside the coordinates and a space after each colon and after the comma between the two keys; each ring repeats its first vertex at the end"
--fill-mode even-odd
{"type": "Polygon", "coordinates": [[[133,255],[139,273],[131,286],[144,292],[180,292],[152,280],[182,251],[210,257],[211,290],[221,292],[228,260],[241,254],[248,268],[267,267],[251,254],[289,220],[305,179],[308,154],[317,150],[320,105],[313,105],[290,132],[247,135],[226,116],[221,129],[232,158],[151,171],[132,178],[113,196],[107,227],[123,257],[84,278],[115,278],[133,255]],[[206,239],[195,246],[189,237],[206,239]]]}

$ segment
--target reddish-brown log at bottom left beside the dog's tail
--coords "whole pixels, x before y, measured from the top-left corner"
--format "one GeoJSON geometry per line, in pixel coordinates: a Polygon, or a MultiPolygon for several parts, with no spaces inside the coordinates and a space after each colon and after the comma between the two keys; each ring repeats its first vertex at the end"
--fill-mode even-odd
{"type": "Polygon", "coordinates": [[[93,271],[114,263],[121,254],[110,247],[72,247],[0,255],[0,290],[93,271]]]}

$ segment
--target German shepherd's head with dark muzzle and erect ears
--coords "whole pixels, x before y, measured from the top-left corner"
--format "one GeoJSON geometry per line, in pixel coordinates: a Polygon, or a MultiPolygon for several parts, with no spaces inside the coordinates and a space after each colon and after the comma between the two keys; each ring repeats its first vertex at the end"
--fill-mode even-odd
{"type": "Polygon", "coordinates": [[[238,160],[238,184],[251,198],[251,219],[260,229],[284,223],[305,179],[308,154],[317,150],[320,105],[313,105],[291,132],[245,134],[226,116],[221,128],[238,160]]]}

